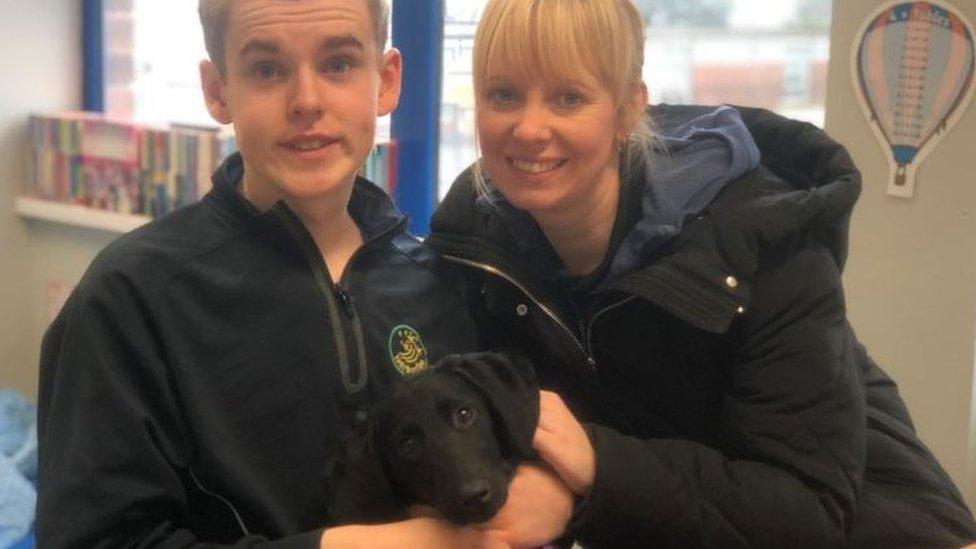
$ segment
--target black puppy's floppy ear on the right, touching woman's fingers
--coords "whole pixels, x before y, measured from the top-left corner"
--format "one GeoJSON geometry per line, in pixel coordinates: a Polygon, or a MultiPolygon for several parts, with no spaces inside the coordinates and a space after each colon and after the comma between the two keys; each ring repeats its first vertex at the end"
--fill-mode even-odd
{"type": "Polygon", "coordinates": [[[446,357],[440,368],[454,372],[485,398],[502,442],[521,459],[532,459],[539,423],[539,383],[532,364],[518,356],[469,353],[446,357]]]}

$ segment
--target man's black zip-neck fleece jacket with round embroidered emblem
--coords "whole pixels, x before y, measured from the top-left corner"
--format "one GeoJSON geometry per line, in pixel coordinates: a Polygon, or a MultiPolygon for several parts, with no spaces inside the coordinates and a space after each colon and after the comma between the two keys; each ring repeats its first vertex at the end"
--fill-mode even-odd
{"type": "Polygon", "coordinates": [[[402,371],[477,348],[440,260],[358,180],[333,280],[234,156],[200,203],[102,251],[48,330],[40,547],[318,547],[323,481],[402,371]]]}

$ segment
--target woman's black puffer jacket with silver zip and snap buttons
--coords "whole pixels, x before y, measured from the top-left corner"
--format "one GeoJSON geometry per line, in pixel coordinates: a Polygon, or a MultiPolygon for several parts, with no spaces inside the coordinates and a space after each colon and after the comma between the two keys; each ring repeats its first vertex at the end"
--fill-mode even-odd
{"type": "Polygon", "coordinates": [[[976,540],[847,322],[859,173],[819,129],[740,111],[762,165],[578,314],[513,252],[524,235],[476,199],[469,174],[433,220],[429,242],[464,267],[486,331],[532,357],[543,386],[591,422],[596,478],[574,534],[594,547],[976,540]]]}

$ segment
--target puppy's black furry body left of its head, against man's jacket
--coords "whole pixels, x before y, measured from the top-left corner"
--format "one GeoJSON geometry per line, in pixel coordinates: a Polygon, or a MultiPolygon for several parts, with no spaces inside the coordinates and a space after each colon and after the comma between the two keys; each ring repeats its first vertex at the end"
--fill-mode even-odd
{"type": "Polygon", "coordinates": [[[328,524],[368,524],[403,518],[376,448],[374,430],[358,429],[326,475],[328,524]]]}

